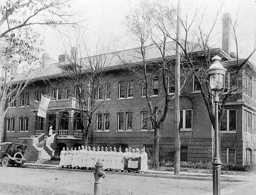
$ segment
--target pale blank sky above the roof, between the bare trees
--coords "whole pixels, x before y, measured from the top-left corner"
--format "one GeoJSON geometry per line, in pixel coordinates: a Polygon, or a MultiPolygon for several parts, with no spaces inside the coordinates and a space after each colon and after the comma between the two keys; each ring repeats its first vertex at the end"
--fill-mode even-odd
{"type": "MultiPolygon", "coordinates": [[[[90,50],[95,50],[95,44],[102,43],[110,45],[110,51],[125,50],[138,47],[135,37],[127,32],[125,18],[129,15],[129,10],[137,6],[139,0],[72,0],[70,11],[76,13],[74,20],[84,20],[81,23],[85,30],[85,42],[90,50]]],[[[172,1],[176,6],[176,0],[172,1]]],[[[255,41],[255,20],[256,1],[255,0],[181,0],[182,14],[193,13],[197,7],[200,13],[205,11],[204,22],[206,29],[210,29],[213,19],[223,4],[223,9],[217,19],[213,31],[212,45],[221,47],[222,37],[222,15],[229,13],[232,21],[238,12],[237,36],[241,57],[252,52],[255,41]]],[[[196,23],[195,25],[198,25],[196,23]]],[[[42,27],[40,27],[42,28],[42,27]]],[[[65,30],[63,30],[64,32],[65,30]]],[[[65,52],[65,40],[61,38],[59,32],[50,28],[40,29],[44,39],[45,52],[49,53],[52,62],[58,61],[58,56],[65,52]]],[[[69,34],[76,34],[69,29],[69,34]]],[[[68,49],[67,49],[68,50],[68,49]]],[[[232,50],[235,51],[235,43],[232,41],[232,50]]],[[[93,53],[93,52],[92,52],[93,53]]],[[[256,61],[256,54],[252,57],[256,61]]]]}

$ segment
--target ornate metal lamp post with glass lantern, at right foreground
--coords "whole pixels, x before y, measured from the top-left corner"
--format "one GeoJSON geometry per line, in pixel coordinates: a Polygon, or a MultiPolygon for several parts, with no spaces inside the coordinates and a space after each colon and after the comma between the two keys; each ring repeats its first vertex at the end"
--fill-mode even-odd
{"type": "Polygon", "coordinates": [[[218,104],[219,104],[219,92],[224,85],[224,77],[226,69],[221,65],[220,56],[214,56],[211,58],[213,61],[209,67],[209,85],[214,91],[214,106],[215,106],[215,131],[214,131],[214,159],[212,160],[212,179],[213,179],[213,195],[220,195],[220,168],[221,161],[219,158],[219,132],[218,132],[218,104]]]}

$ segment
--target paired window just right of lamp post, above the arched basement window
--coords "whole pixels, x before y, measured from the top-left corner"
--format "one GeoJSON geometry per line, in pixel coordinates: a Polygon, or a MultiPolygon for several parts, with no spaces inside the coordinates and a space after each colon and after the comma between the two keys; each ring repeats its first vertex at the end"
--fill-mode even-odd
{"type": "Polygon", "coordinates": [[[221,131],[236,131],[236,110],[226,110],[221,126],[220,126],[221,131]]]}

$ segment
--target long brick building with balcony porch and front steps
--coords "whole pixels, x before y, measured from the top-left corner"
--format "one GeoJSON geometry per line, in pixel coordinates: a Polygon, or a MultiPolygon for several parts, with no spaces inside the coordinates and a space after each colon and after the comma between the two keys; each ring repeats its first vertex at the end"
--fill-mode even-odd
{"type": "MultiPolygon", "coordinates": [[[[223,22],[223,24],[225,21],[223,22]]],[[[228,52],[229,39],[223,35],[223,47],[211,50],[211,55],[219,55],[222,64],[229,69],[236,60],[228,52]],[[225,41],[227,40],[227,41],[225,41]]],[[[174,55],[174,42],[168,43],[169,56],[174,55]]],[[[72,51],[71,51],[72,52],[72,51]]],[[[130,64],[140,63],[138,58],[131,58],[134,50],[121,51],[129,58],[130,64]]],[[[154,45],[147,47],[149,61],[157,61],[160,53],[154,45]]],[[[72,53],[71,53],[72,54],[72,53]]],[[[199,54],[197,52],[196,54],[199,54]]],[[[75,146],[81,143],[81,129],[74,91],[61,84],[51,85],[50,80],[61,79],[61,66],[67,65],[67,56],[60,55],[59,63],[48,64],[43,56],[45,67],[38,73],[26,91],[17,97],[8,108],[5,119],[5,140],[21,142],[28,145],[28,160],[47,159],[59,155],[62,146],[75,146]],[[48,107],[47,118],[37,117],[41,95],[48,95],[52,100],[48,107]],[[72,95],[71,95],[72,94],[72,95]],[[53,135],[48,137],[49,125],[53,126],[53,135]]],[[[83,59],[86,61],[86,59],[83,59]]],[[[153,151],[154,129],[147,119],[148,106],[143,95],[142,85],[132,74],[122,71],[123,66],[114,54],[107,54],[109,66],[105,68],[105,79],[98,90],[100,106],[93,118],[89,132],[91,146],[145,147],[149,158],[153,151]],[[109,85],[111,84],[111,85],[109,85]],[[111,93],[106,93],[107,88],[111,93]],[[103,101],[102,101],[103,100],[103,101]]],[[[243,59],[240,59],[241,63],[243,59]]],[[[232,72],[227,72],[226,80],[232,72]]],[[[248,61],[246,68],[240,70],[237,85],[246,86],[243,92],[229,98],[226,103],[226,113],[221,126],[221,158],[222,163],[246,164],[255,162],[256,150],[256,89],[255,66],[248,61]]],[[[161,79],[161,78],[159,78],[161,79]]],[[[168,78],[168,92],[173,95],[168,78]]],[[[213,144],[213,130],[202,94],[198,90],[194,78],[188,78],[180,97],[181,114],[181,160],[203,161],[209,158],[213,144]]],[[[87,86],[88,83],[85,83],[87,86]]],[[[161,100],[161,86],[157,79],[152,79],[151,96],[156,101],[161,100]]],[[[167,118],[160,135],[160,158],[174,158],[174,102],[170,102],[167,118]]]]}

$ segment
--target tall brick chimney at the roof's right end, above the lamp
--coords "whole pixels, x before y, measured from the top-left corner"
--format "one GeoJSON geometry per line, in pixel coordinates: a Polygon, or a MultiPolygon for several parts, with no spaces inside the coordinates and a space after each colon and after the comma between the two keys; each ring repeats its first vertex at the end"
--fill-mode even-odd
{"type": "Polygon", "coordinates": [[[226,52],[228,55],[231,50],[231,18],[229,13],[224,13],[222,18],[222,50],[226,52]]]}

